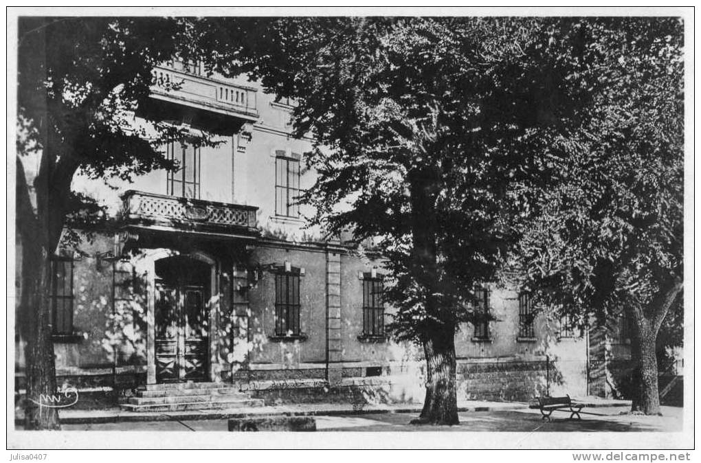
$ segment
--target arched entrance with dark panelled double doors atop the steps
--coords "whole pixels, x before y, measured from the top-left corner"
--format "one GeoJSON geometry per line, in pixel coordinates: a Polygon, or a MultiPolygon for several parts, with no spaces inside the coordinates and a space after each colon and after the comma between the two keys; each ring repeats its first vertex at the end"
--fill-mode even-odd
{"type": "Polygon", "coordinates": [[[193,258],[156,261],[156,382],[207,380],[210,278],[193,258]]]}

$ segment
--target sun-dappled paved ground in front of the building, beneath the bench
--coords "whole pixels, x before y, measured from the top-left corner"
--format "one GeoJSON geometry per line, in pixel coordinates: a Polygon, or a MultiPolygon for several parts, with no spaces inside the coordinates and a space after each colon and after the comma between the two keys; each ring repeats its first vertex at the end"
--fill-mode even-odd
{"type": "MultiPolygon", "coordinates": [[[[682,408],[662,407],[663,416],[621,415],[620,407],[600,407],[582,413],[582,420],[567,420],[559,413],[543,421],[538,410],[490,410],[459,413],[457,426],[408,424],[418,413],[368,413],[364,415],[317,415],[318,431],[681,431],[682,408]]],[[[226,431],[226,419],[169,420],[158,422],[113,422],[64,424],[64,430],[95,431],[226,431]]]]}

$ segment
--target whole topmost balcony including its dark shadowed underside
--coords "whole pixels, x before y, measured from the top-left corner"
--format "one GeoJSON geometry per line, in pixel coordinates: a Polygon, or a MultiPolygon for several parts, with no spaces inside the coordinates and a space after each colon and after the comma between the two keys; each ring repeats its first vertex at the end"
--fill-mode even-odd
{"type": "Polygon", "coordinates": [[[177,120],[226,134],[236,133],[244,123],[259,118],[255,88],[175,65],[156,66],[151,75],[151,103],[140,108],[151,118],[177,120]]]}

